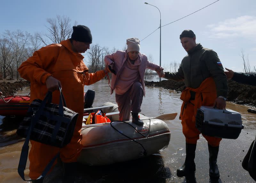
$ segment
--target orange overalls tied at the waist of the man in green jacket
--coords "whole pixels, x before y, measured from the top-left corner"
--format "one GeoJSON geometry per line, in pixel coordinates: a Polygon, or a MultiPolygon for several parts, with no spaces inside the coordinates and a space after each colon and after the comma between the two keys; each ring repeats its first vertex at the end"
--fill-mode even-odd
{"type": "MultiPolygon", "coordinates": [[[[213,106],[217,98],[216,86],[212,77],[206,78],[198,88],[187,87],[182,91],[180,99],[183,100],[180,112],[182,132],[186,143],[196,144],[200,131],[196,128],[196,112],[200,106],[213,106]],[[191,93],[194,96],[191,96],[191,93]]],[[[204,135],[211,146],[219,146],[221,138],[204,135]]]]}

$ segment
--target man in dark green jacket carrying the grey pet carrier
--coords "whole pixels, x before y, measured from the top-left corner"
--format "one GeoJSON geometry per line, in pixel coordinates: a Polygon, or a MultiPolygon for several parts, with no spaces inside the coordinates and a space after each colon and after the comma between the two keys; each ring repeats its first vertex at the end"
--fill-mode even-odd
{"type": "MultiPolygon", "coordinates": [[[[180,119],[182,132],[186,137],[185,163],[177,170],[177,176],[186,176],[195,182],[195,150],[200,132],[195,127],[195,115],[200,106],[226,107],[228,95],[227,77],[216,52],[196,44],[196,35],[191,30],[184,30],[180,34],[180,42],[186,50],[178,72],[164,73],[164,78],[174,81],[184,81],[186,89],[182,91],[180,99],[180,119]]],[[[219,179],[220,173],[216,164],[221,138],[204,135],[209,149],[210,179],[219,179]]]]}

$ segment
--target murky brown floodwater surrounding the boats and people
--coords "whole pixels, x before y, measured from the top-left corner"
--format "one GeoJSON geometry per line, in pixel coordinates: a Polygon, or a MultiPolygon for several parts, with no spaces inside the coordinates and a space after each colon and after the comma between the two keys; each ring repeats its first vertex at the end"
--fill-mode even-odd
{"type": "MultiPolygon", "coordinates": [[[[115,95],[110,95],[107,80],[85,86],[96,92],[93,106],[105,102],[115,103],[115,95]]],[[[26,95],[29,87],[17,94],[26,95]]],[[[162,88],[146,87],[146,97],[143,98],[142,111],[148,117],[156,117],[165,113],[180,113],[180,93],[162,88]]],[[[227,108],[242,115],[244,129],[240,136],[233,139],[223,139],[220,143],[218,167],[220,179],[225,183],[255,182],[246,172],[241,163],[256,134],[256,114],[248,113],[248,106],[227,103],[227,108]]],[[[17,173],[20,150],[24,139],[15,132],[19,120],[6,119],[0,116],[0,182],[24,182],[17,173]]],[[[185,161],[185,137],[182,134],[181,121],[178,116],[172,121],[166,121],[172,133],[169,146],[159,154],[109,166],[79,166],[79,176],[84,182],[145,182],[145,183],[184,183],[186,180],[176,176],[176,170],[185,161]]],[[[88,157],[89,158],[89,157],[88,157]]],[[[202,135],[196,147],[196,179],[197,182],[209,182],[209,153],[207,141],[202,135]]],[[[25,174],[28,175],[28,165],[25,174]]]]}

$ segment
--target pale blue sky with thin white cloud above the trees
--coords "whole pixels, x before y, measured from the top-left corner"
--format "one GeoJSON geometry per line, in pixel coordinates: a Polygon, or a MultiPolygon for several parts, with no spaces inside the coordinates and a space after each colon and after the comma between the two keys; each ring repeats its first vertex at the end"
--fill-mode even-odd
{"type": "MultiPolygon", "coordinates": [[[[182,18],[215,0],[146,0],[161,11],[162,26],[182,18]]],[[[1,3],[0,34],[20,29],[29,33],[46,32],[46,18],[71,18],[72,24],[88,26],[92,43],[122,49],[127,38],[142,40],[160,24],[159,11],[145,0],[8,0],[1,3]]],[[[186,55],[179,35],[184,29],[196,34],[196,42],[217,52],[224,67],[243,71],[241,49],[256,66],[256,0],[219,0],[170,25],[162,27],[162,66],[181,62],[186,55]]],[[[140,52],[152,55],[159,64],[158,29],[141,41],[140,52]]],[[[85,55],[85,60],[87,56],[85,55]]]]}

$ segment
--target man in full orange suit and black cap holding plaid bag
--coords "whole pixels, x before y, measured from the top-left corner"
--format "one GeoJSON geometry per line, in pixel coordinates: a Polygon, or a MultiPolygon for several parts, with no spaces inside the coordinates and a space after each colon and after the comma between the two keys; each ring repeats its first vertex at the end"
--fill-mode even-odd
{"type": "Polygon", "coordinates": [[[75,162],[82,149],[80,129],[84,112],[84,85],[96,83],[105,77],[108,72],[105,68],[105,70],[89,73],[83,62],[84,56],[81,53],[90,49],[91,43],[92,34],[88,27],[82,25],[73,26],[71,39],[37,50],[18,69],[20,76],[31,83],[31,101],[34,99],[43,100],[49,90],[54,91],[52,93],[52,103],[59,104],[60,92],[58,89],[60,86],[65,96],[67,107],[79,113],[74,135],[71,142],[64,148],[60,149],[30,141],[29,177],[33,180],[32,182],[43,182],[42,178],[37,178],[58,152],[60,152],[60,158],[64,163],[65,174],[67,174],[65,180],[67,182],[75,181],[74,177],[72,178],[72,172],[74,173],[76,170],[75,162]]]}

